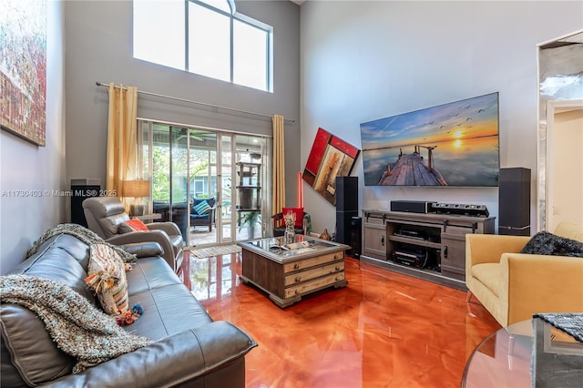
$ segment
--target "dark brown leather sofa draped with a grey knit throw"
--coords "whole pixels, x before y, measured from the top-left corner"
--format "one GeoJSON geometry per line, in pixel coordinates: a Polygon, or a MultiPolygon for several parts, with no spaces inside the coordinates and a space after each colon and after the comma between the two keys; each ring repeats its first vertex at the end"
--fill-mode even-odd
{"type": "MultiPolygon", "coordinates": [[[[213,322],[204,307],[159,255],[157,243],[137,244],[133,270],[127,272],[129,303],[144,314],[123,328],[154,342],[134,352],[72,373],[76,360],[56,347],[32,311],[0,305],[1,386],[63,387],[244,387],[245,354],[257,346],[230,322],[213,322]]],[[[84,282],[89,247],[59,234],[10,274],[60,281],[99,306],[84,282]]]]}

